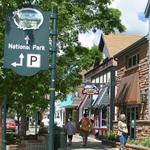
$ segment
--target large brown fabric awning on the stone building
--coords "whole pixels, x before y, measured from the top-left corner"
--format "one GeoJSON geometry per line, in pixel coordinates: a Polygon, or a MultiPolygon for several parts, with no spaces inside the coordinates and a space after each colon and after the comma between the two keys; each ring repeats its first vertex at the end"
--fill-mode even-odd
{"type": "Polygon", "coordinates": [[[117,90],[116,105],[140,104],[138,72],[124,77],[117,90]]]}

